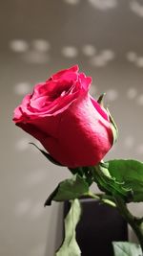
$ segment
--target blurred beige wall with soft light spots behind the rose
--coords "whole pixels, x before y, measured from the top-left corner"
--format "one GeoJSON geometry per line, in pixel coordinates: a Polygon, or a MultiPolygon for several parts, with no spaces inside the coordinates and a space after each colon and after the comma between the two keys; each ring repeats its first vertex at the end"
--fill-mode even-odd
{"type": "MultiPolygon", "coordinates": [[[[78,63],[119,128],[107,158],[143,159],[143,5],[139,0],[0,3],[0,255],[53,256],[61,205],[45,199],[68,170],[49,163],[12,111],[34,83],[78,63]]],[[[142,204],[130,206],[143,215],[142,204]]],[[[131,233],[131,238],[133,234],[131,233]]]]}

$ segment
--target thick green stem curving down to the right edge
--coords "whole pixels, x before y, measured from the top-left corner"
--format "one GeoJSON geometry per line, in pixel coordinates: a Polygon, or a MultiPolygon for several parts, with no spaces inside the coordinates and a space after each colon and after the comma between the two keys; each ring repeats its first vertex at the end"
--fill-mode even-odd
{"type": "Polygon", "coordinates": [[[115,196],[114,197],[117,209],[119,210],[120,214],[123,216],[123,218],[132,226],[133,231],[138,239],[138,242],[142,248],[143,252],[143,229],[142,229],[142,221],[140,219],[135,218],[131,212],[128,210],[126,203],[124,200],[120,197],[115,196]]]}

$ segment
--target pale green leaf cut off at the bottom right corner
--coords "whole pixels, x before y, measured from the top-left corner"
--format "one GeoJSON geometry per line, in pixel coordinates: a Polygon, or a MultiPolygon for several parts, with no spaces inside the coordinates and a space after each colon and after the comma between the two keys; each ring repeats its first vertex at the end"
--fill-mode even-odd
{"type": "Polygon", "coordinates": [[[128,242],[113,242],[114,256],[142,256],[139,244],[128,242]]]}

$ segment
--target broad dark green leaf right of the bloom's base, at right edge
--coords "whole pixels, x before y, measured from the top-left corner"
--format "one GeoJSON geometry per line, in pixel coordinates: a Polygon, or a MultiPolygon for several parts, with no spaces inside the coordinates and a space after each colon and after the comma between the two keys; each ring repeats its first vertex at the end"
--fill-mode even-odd
{"type": "Polygon", "coordinates": [[[108,162],[112,178],[133,191],[130,201],[143,201],[143,163],[136,160],[116,159],[108,162]]]}

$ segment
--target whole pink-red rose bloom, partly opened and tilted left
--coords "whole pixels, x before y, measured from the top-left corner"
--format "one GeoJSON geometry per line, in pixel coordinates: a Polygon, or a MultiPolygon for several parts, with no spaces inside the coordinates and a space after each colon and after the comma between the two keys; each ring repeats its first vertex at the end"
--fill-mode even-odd
{"type": "Polygon", "coordinates": [[[71,168],[96,165],[113,143],[109,114],[90,95],[91,82],[77,65],[59,71],[36,84],[14,111],[15,124],[71,168]]]}

